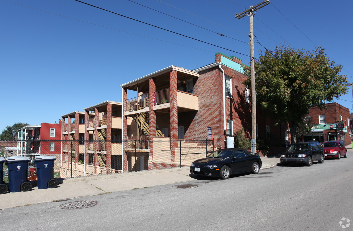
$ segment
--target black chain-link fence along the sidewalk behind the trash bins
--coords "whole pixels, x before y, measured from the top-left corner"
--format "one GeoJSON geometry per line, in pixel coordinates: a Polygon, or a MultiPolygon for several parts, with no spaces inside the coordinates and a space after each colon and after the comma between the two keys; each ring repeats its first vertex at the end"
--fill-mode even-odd
{"type": "MultiPolygon", "coordinates": [[[[161,137],[112,141],[1,141],[1,157],[27,156],[29,180],[36,180],[34,157],[55,156],[54,178],[72,178],[127,171],[177,168],[214,151],[214,140],[175,140],[161,137]],[[123,152],[124,150],[124,152],[123,152]]],[[[4,163],[3,177],[8,182],[4,163]]]]}

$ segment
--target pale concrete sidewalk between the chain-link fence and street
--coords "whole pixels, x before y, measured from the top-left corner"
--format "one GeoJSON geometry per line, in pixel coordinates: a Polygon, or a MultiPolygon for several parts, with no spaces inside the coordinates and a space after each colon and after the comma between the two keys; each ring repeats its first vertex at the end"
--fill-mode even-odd
{"type": "MultiPolygon", "coordinates": [[[[261,160],[261,169],[274,167],[280,162],[278,157],[262,157],[261,160]]],[[[0,209],[195,180],[189,175],[189,167],[182,167],[77,177],[58,181],[56,188],[38,189],[35,186],[28,192],[1,194],[0,209]]]]}

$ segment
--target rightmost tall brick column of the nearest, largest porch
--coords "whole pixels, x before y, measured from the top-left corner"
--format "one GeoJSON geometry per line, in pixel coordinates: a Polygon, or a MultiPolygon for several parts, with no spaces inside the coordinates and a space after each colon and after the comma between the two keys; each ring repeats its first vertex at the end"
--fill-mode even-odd
{"type": "MultiPolygon", "coordinates": [[[[178,87],[177,71],[170,71],[170,140],[178,139],[178,87]]],[[[170,161],[175,161],[178,142],[170,142],[170,161]]]]}

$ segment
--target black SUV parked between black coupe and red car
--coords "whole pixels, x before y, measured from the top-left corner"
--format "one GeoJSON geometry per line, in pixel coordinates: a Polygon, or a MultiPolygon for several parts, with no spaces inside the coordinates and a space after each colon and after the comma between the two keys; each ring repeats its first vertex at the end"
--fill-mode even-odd
{"type": "Polygon", "coordinates": [[[283,152],[280,158],[285,165],[288,163],[305,163],[311,166],[313,161],[323,163],[325,160],[324,149],[317,141],[298,142],[292,144],[288,151],[283,152]]]}

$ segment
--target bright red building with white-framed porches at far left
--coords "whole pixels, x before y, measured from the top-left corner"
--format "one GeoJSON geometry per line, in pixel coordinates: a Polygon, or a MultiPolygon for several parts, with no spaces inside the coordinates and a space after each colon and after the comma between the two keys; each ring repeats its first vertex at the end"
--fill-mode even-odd
{"type": "Polygon", "coordinates": [[[59,123],[27,125],[18,130],[17,155],[34,157],[61,154],[61,120],[59,123]]]}

